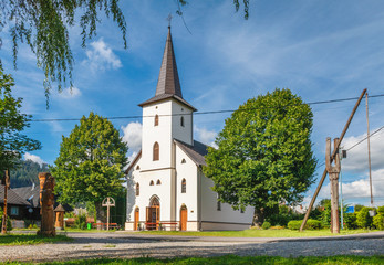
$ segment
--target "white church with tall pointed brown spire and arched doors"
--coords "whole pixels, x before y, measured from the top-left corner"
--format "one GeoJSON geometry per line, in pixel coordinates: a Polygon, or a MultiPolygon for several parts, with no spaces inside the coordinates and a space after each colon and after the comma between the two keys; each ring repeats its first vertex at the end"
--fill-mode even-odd
{"type": "Polygon", "coordinates": [[[201,167],[207,146],[194,140],[194,112],[183,98],[170,28],[156,94],[143,108],[142,150],[126,170],[125,230],[245,230],[253,208],[218,202],[201,167]]]}

